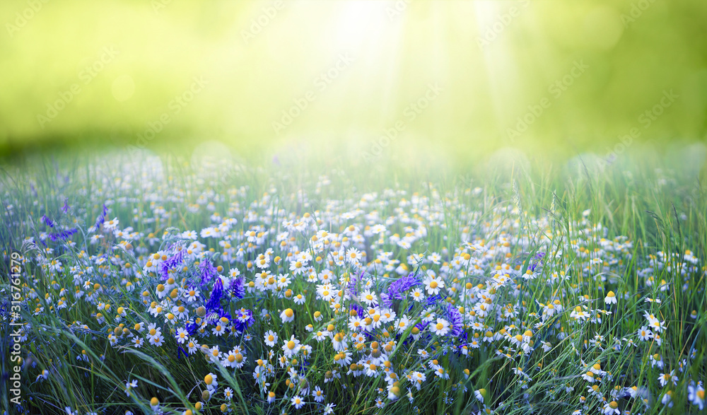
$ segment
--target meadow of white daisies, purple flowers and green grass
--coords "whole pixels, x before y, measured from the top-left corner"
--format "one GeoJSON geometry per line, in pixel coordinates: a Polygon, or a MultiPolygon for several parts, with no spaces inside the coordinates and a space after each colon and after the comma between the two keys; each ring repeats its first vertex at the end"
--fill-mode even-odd
{"type": "Polygon", "coordinates": [[[373,164],[6,165],[0,406],[704,413],[707,199],[679,164],[373,164]]]}

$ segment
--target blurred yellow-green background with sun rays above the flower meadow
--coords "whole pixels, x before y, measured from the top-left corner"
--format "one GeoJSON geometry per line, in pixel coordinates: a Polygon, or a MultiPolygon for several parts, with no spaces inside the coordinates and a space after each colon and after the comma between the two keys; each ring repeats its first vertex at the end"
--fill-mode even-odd
{"type": "Polygon", "coordinates": [[[704,141],[706,21],[704,0],[6,0],[0,153],[704,141]]]}

